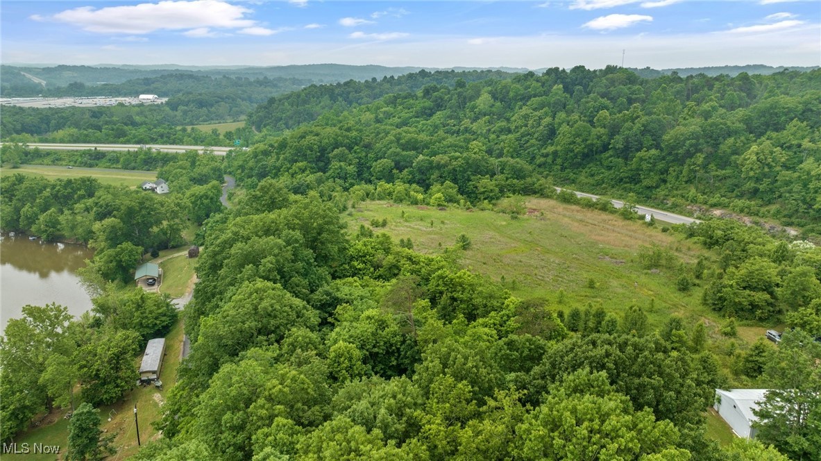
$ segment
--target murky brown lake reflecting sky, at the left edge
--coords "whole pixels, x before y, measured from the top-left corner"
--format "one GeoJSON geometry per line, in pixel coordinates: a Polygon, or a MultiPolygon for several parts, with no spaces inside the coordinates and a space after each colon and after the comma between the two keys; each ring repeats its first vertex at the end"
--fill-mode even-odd
{"type": "Polygon", "coordinates": [[[21,316],[26,304],[57,302],[79,316],[91,309],[91,298],[76,270],[94,252],[80,245],[40,243],[27,236],[2,237],[0,242],[0,333],[8,319],[21,316]]]}

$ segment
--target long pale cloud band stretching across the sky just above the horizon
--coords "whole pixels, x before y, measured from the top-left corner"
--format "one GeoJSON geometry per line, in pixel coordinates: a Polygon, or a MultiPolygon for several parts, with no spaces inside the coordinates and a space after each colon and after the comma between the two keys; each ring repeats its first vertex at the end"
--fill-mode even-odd
{"type": "MultiPolygon", "coordinates": [[[[243,3],[247,5],[247,3],[243,3]]],[[[535,3],[533,4],[535,7],[535,3]]],[[[773,12],[777,10],[773,9],[773,12]]],[[[766,14],[766,13],[765,13],[766,14]]],[[[697,17],[697,16],[696,16],[697,17]]],[[[763,18],[764,16],[762,16],[763,18]]],[[[656,19],[656,21],[659,21],[656,19]]],[[[654,22],[656,22],[654,21],[654,22]]],[[[718,19],[713,18],[713,22],[718,19]]],[[[330,25],[329,25],[330,26],[330,25]]],[[[328,26],[328,28],[330,28],[328,26]]],[[[353,32],[354,30],[349,30],[353,32]]],[[[630,67],[704,67],[744,65],[757,62],[769,66],[818,66],[821,56],[821,25],[807,21],[794,29],[771,34],[731,34],[724,32],[683,34],[650,33],[637,35],[545,34],[490,37],[481,45],[469,45],[475,36],[427,37],[411,34],[406,39],[339,39],[305,41],[295,44],[268,40],[263,48],[238,47],[232,40],[209,40],[207,46],[195,40],[152,40],[147,46],[123,46],[129,53],[105,51],[97,44],[76,44],[70,40],[48,47],[25,39],[3,35],[2,62],[54,62],[94,65],[126,60],[133,64],[175,62],[181,65],[341,64],[427,67],[571,67],[602,68],[621,63],[630,67]]]]}

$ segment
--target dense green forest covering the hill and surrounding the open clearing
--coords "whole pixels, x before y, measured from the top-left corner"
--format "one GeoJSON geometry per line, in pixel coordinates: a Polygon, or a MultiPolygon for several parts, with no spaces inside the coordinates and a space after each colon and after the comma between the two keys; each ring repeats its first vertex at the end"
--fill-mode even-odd
{"type": "MultiPolygon", "coordinates": [[[[152,226],[187,216],[202,224],[203,251],[182,312],[190,356],[165,395],[163,437],[136,459],[821,459],[821,247],[732,220],[658,230],[709,257],[675,260],[653,247],[638,260],[676,274],[681,292],[704,286],[715,316],[667,315],[654,329],[652,300],[518,298],[460,265],[462,252],[483,251],[467,236],[422,254],[379,233],[383,222],[346,229],[342,217],[380,200],[523,219],[519,196],[529,195],[635,219],[629,204],[619,212],[557,184],[726,206],[813,237],[821,71],[649,80],[576,67],[409,83],[437,75],[277,97],[255,111],[263,132],[250,150],[161,166],[187,191],[151,195],[181,207],[152,226]],[[215,202],[222,173],[244,189],[230,209],[215,202]],[[773,346],[740,338],[739,323],[792,330],[773,346]],[[704,411],[717,387],[733,386],[777,391],[756,412],[757,440],[721,446],[705,434],[704,411]]],[[[9,322],[3,440],[45,408],[66,407],[76,382],[85,401],[116,400],[133,379],[129,354],[173,320],[162,302],[107,285],[163,235],[132,225],[143,222],[128,214],[142,216],[139,194],[87,183],[13,175],[0,185],[4,229],[53,224],[55,235],[80,238],[64,223],[92,222],[89,278],[101,287],[80,320],[32,307],[9,322]],[[107,341],[118,345],[108,356],[107,341]],[[71,373],[55,372],[76,357],[71,373]],[[104,360],[116,373],[94,375],[104,360]]]]}

